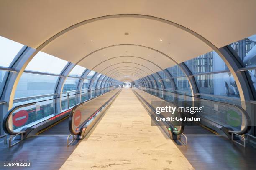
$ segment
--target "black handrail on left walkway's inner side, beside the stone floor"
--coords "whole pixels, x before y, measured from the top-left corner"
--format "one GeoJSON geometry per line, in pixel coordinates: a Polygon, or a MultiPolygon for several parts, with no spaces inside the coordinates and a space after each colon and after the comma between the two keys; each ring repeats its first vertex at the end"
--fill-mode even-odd
{"type": "MultiPolygon", "coordinates": [[[[105,107],[106,104],[108,104],[111,100],[113,100],[121,91],[121,89],[118,89],[118,88],[116,88],[114,90],[117,90],[117,92],[115,92],[106,102],[104,102],[100,107],[98,107],[96,111],[94,111],[94,112],[92,112],[92,114],[88,115],[84,121],[80,122],[79,125],[77,125],[77,127],[75,129],[73,128],[72,124],[73,124],[73,120],[75,119],[74,114],[76,113],[77,109],[83,105],[86,105],[88,102],[92,102],[93,100],[99,100],[100,97],[103,97],[104,95],[107,95],[108,93],[113,92],[113,90],[106,92],[102,95],[99,95],[92,100],[87,100],[82,103],[79,103],[78,105],[75,105],[72,108],[72,110],[69,114],[69,131],[71,133],[69,136],[72,135],[74,138],[74,135],[81,134],[82,129],[84,128],[84,125],[86,125],[103,107],[105,107]]],[[[69,137],[67,138],[67,140],[68,139],[69,139],[69,137]]]]}

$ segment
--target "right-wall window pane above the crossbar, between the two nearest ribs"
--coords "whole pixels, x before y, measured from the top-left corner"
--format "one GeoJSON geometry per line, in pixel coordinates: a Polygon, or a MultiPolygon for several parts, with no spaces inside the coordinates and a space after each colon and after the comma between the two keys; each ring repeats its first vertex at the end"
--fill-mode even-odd
{"type": "Polygon", "coordinates": [[[227,65],[215,51],[200,55],[184,63],[193,74],[228,70],[227,65]]]}

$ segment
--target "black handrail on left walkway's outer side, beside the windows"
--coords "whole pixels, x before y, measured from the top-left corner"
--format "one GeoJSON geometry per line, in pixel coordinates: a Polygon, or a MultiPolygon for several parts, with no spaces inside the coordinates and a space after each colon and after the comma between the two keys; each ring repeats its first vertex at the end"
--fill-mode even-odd
{"type": "MultiPolygon", "coordinates": [[[[111,87],[115,87],[115,86],[104,87],[102,89],[90,90],[90,91],[86,91],[86,92],[80,92],[80,93],[75,93],[75,94],[72,94],[72,95],[65,95],[65,96],[61,96],[61,97],[54,97],[54,98],[51,98],[51,99],[40,100],[40,101],[36,101],[36,102],[31,102],[31,103],[26,103],[26,104],[15,106],[12,109],[10,109],[8,111],[8,113],[5,115],[5,117],[3,119],[3,130],[5,131],[5,133],[7,133],[9,135],[17,135],[17,134],[20,134],[20,132],[23,132],[23,133],[25,132],[24,130],[15,132],[12,129],[10,129],[10,127],[9,127],[9,120],[10,120],[10,117],[13,115],[13,112],[15,112],[16,110],[18,110],[18,109],[20,109],[22,107],[31,106],[31,105],[34,105],[34,104],[36,104],[38,102],[46,102],[46,101],[50,101],[50,100],[61,99],[61,98],[64,98],[64,97],[70,97],[70,96],[75,96],[75,95],[79,95],[79,94],[92,93],[94,91],[104,90],[104,89],[108,89],[108,88],[111,88],[111,87]]],[[[95,98],[95,97],[92,97],[92,98],[95,98]]],[[[90,99],[92,99],[92,98],[90,98],[90,99]]]]}

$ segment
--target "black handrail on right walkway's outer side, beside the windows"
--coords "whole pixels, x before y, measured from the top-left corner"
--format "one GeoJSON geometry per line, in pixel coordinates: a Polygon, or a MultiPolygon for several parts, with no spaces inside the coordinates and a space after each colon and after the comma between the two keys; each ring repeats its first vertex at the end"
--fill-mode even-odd
{"type": "MultiPolygon", "coordinates": [[[[147,87],[146,87],[147,88],[147,87]]],[[[139,89],[139,88],[138,88],[139,89]]],[[[139,89],[141,90],[141,89],[139,89]]],[[[151,90],[151,89],[150,89],[151,90]]],[[[155,89],[153,89],[155,90],[155,89]]],[[[143,90],[144,91],[144,90],[143,90]]],[[[178,93],[174,93],[174,92],[168,92],[168,91],[163,91],[163,90],[160,90],[164,93],[172,93],[172,94],[175,94],[175,95],[183,95],[183,94],[178,94],[178,93]]],[[[150,93],[149,93],[150,94],[150,93]]],[[[151,94],[152,95],[152,94],[151,94]]],[[[154,95],[155,96],[155,95],[154,95]]],[[[199,100],[207,100],[207,101],[210,101],[210,102],[215,102],[215,103],[220,103],[221,105],[225,105],[225,106],[231,106],[231,107],[235,107],[236,109],[238,109],[242,114],[243,116],[245,117],[245,125],[243,125],[243,129],[239,130],[239,131],[235,131],[235,130],[228,130],[229,133],[237,133],[238,135],[243,135],[243,134],[246,134],[248,133],[248,131],[251,129],[251,119],[250,119],[250,116],[248,115],[248,113],[246,112],[246,110],[244,110],[241,106],[238,106],[238,105],[235,105],[235,104],[230,104],[230,103],[225,103],[225,102],[220,102],[220,101],[215,101],[215,100],[209,100],[209,99],[202,99],[200,97],[195,97],[195,96],[189,96],[189,95],[183,95],[185,97],[192,97],[192,98],[196,98],[196,99],[199,99],[199,100]]],[[[156,96],[156,97],[159,97],[159,96],[156,96]]],[[[161,98],[161,97],[159,97],[161,98]]],[[[163,98],[161,98],[162,100],[165,100],[163,98]]],[[[168,100],[165,100],[166,102],[170,102],[168,100]]],[[[193,100],[193,102],[195,102],[195,100],[193,100]]],[[[175,103],[177,104],[177,103],[175,103]]],[[[205,118],[205,117],[204,117],[205,118]]],[[[207,118],[205,118],[207,119],[207,118]]],[[[208,120],[208,119],[207,119],[208,120]]],[[[212,121],[212,120],[209,120],[209,121],[212,121]]],[[[215,122],[216,123],[216,122],[215,122]]],[[[218,123],[216,123],[218,124],[218,123]]]]}

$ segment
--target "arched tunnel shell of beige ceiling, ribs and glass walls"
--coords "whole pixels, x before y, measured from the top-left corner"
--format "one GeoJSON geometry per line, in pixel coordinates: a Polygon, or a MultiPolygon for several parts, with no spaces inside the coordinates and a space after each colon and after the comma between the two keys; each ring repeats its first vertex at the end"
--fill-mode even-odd
{"type": "Polygon", "coordinates": [[[44,112],[67,114],[100,96],[111,94],[114,101],[114,90],[129,86],[141,90],[133,92],[151,109],[144,92],[154,100],[171,95],[173,101],[182,96],[234,105],[251,119],[238,135],[255,137],[255,7],[253,0],[3,0],[0,136],[8,113],[20,106],[33,103],[37,112],[43,101],[44,112]]]}

